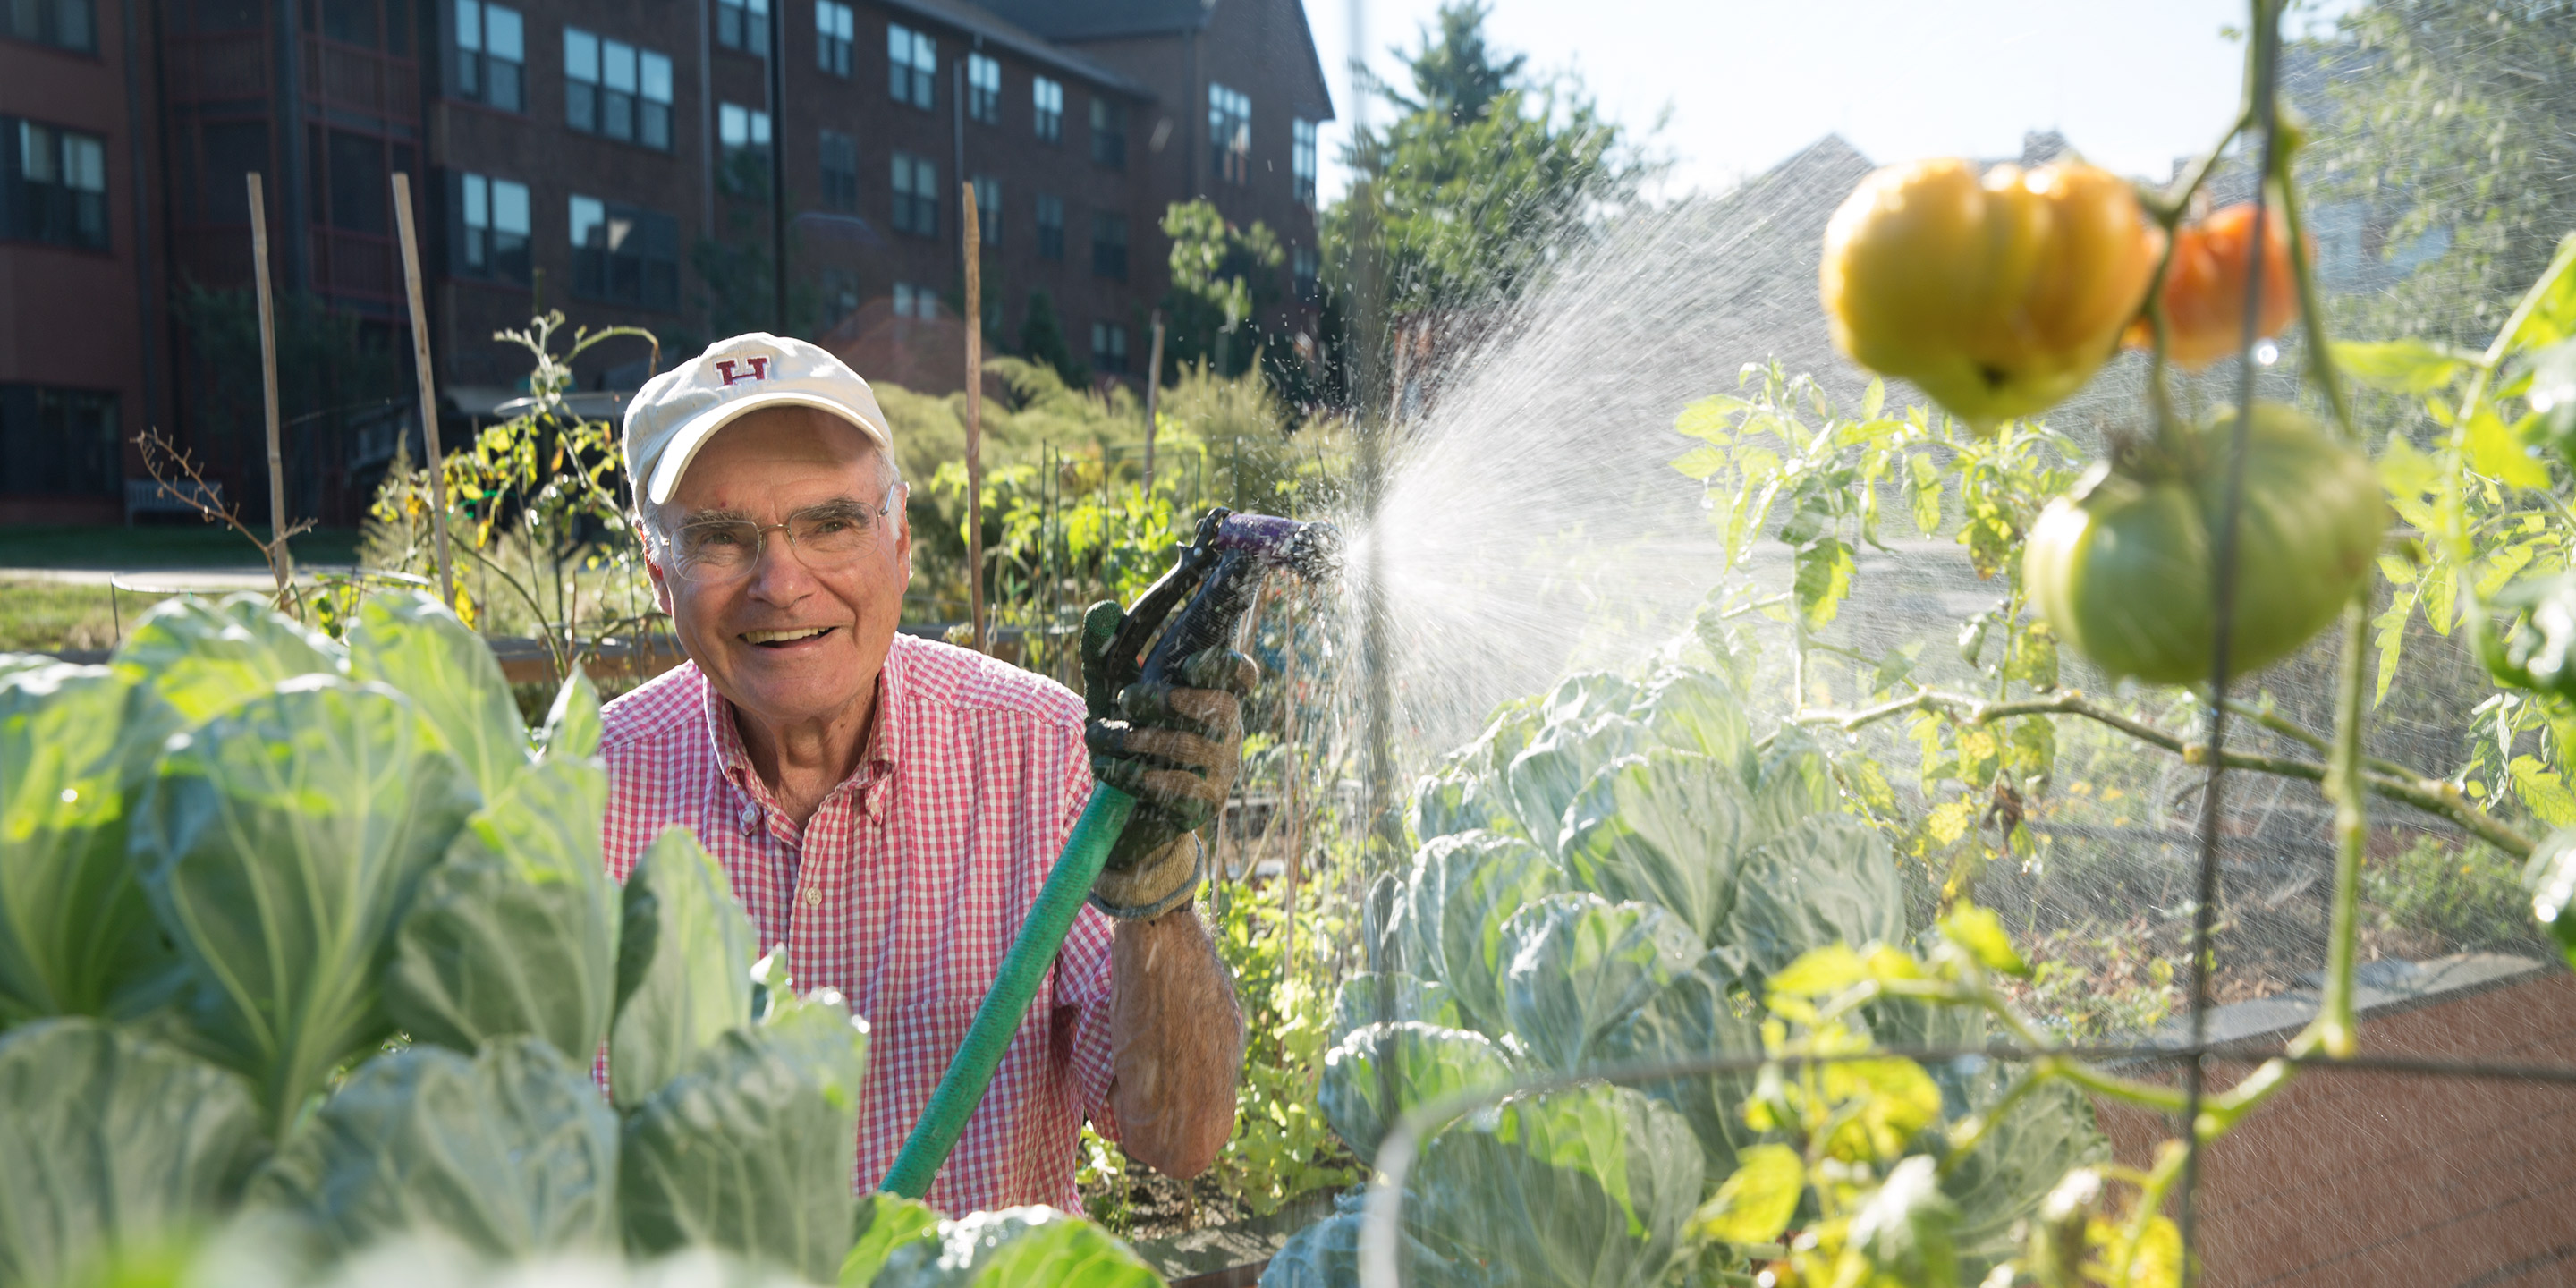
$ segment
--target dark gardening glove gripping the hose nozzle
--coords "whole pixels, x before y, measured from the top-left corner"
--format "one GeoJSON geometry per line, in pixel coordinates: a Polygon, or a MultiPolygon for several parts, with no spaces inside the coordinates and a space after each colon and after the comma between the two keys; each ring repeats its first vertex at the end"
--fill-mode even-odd
{"type": "Polygon", "coordinates": [[[1180,683],[1115,688],[1110,641],[1123,621],[1115,600],[1082,616],[1090,708],[1082,742],[1092,752],[1092,778],[1136,799],[1092,881],[1092,904],[1110,917],[1159,917],[1206,878],[1198,829],[1234,791],[1244,755],[1242,696],[1252,693],[1260,667],[1231,649],[1200,649],[1182,659],[1180,683]]]}

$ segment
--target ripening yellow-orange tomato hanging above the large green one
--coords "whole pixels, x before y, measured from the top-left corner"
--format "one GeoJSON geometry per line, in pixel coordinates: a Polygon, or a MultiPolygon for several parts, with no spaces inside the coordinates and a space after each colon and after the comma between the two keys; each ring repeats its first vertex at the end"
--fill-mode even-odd
{"type": "Polygon", "coordinates": [[[1855,363],[1984,433],[2102,368],[2161,250],[2130,185],[2092,165],[1891,165],[1824,229],[1824,314],[1855,363]]]}

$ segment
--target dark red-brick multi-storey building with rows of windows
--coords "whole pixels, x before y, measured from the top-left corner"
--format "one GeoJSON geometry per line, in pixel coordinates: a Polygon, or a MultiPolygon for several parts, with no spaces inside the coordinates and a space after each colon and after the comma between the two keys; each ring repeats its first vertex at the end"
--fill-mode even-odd
{"type": "MultiPolygon", "coordinates": [[[[665,350],[783,327],[876,379],[956,389],[961,183],[979,193],[1002,348],[1043,291],[1077,358],[1139,379],[1167,289],[1162,211],[1195,196],[1288,247],[1273,325],[1296,330],[1311,299],[1314,131],[1332,100],[1301,0],[0,13],[0,523],[121,518],[147,425],[175,428],[240,497],[265,492],[255,361],[206,304],[250,283],[250,170],[270,193],[281,368],[301,353],[289,332],[312,335],[322,368],[307,371],[317,412],[291,430],[291,492],[340,520],[407,415],[389,397],[410,389],[394,173],[415,185],[451,415],[518,394],[528,361],[492,332],[544,309],[647,327],[665,350]],[[317,312],[289,325],[296,299],[317,312]]],[[[644,374],[636,343],[577,366],[585,389],[644,374]]]]}

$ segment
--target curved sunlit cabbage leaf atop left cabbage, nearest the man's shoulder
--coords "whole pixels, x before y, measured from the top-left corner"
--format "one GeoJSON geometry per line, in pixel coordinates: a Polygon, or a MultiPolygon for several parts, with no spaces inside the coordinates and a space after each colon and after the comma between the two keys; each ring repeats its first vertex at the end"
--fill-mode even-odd
{"type": "Polygon", "coordinates": [[[348,629],[348,670],[410,696],[487,801],[528,768],[528,724],[500,659],[438,595],[368,595],[348,629]]]}

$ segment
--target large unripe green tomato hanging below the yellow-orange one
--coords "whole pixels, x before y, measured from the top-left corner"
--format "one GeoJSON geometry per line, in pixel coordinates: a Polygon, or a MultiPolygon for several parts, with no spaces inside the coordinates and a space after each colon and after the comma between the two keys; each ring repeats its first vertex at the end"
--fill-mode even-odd
{"type": "MultiPolygon", "coordinates": [[[[2112,675],[2156,685],[2210,677],[2215,526],[2233,417],[2184,443],[2195,464],[2097,469],[2030,531],[2022,587],[2058,639],[2112,675]]],[[[2342,613],[2388,528],[2370,461],[2280,404],[2254,404],[2236,528],[2228,670],[2298,652],[2342,613]]]]}

